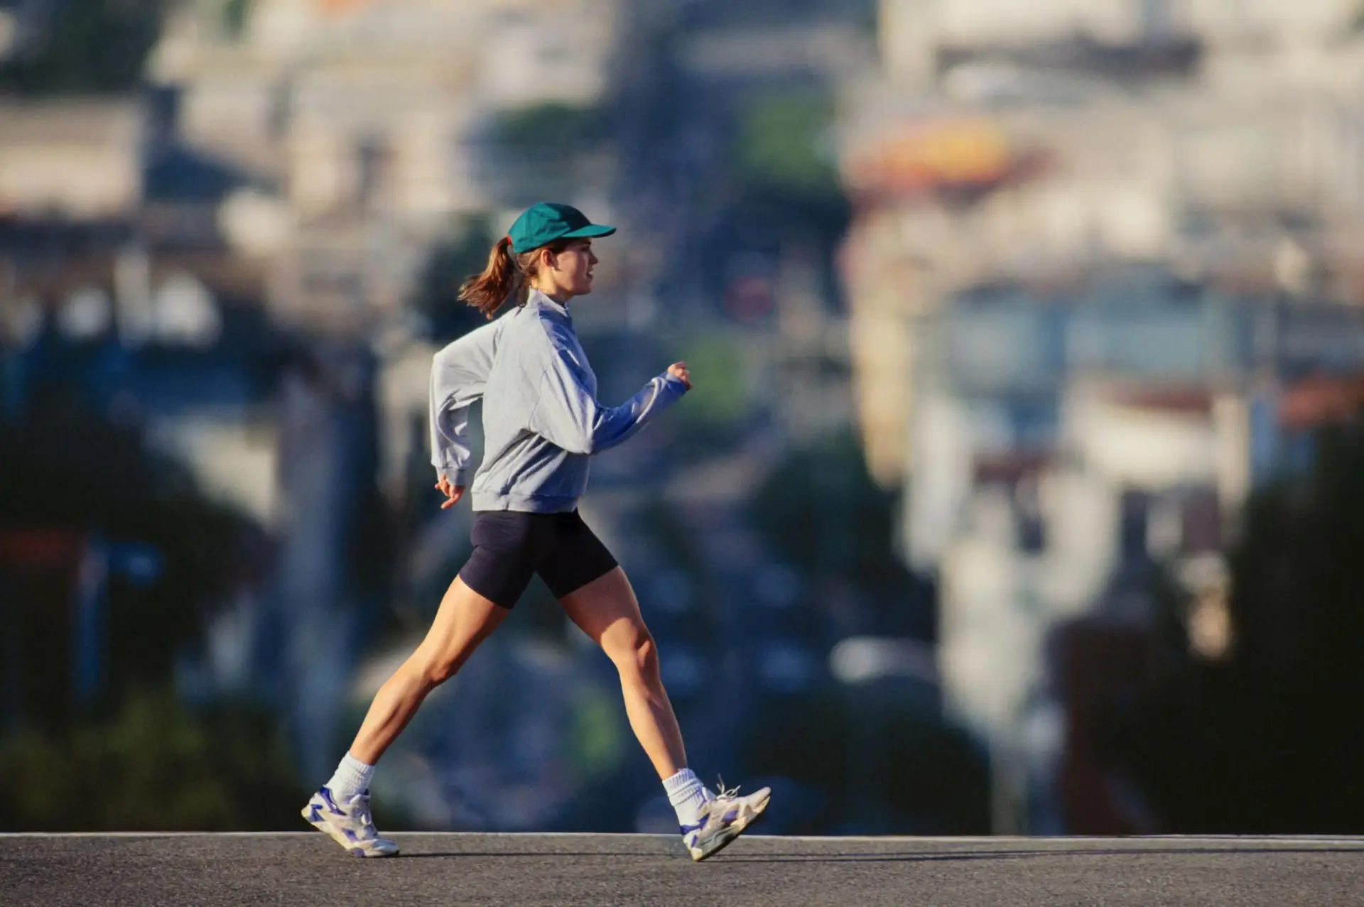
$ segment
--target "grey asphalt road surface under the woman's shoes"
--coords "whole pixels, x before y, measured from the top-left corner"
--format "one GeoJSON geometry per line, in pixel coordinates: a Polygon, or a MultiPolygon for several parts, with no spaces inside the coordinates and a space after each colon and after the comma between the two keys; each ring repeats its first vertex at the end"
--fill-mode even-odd
{"type": "Polygon", "coordinates": [[[1364,837],[0,836],[0,904],[1364,904],[1364,837]]]}

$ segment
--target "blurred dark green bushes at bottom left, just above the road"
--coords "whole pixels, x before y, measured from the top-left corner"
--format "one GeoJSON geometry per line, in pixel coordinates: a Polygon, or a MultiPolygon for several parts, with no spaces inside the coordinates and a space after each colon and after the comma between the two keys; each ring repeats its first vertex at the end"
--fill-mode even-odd
{"type": "Polygon", "coordinates": [[[297,824],[303,788],[258,709],[131,696],[110,720],[0,739],[5,831],[229,831],[297,824]]]}

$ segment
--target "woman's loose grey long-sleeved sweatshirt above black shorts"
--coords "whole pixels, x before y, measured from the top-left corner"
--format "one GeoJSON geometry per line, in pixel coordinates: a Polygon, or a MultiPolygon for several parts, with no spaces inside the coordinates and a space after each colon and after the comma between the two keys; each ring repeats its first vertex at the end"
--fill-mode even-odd
{"type": "Polygon", "coordinates": [[[588,487],[588,457],[617,446],[675,404],[667,372],[619,406],[596,401],[567,307],[531,291],[524,307],[469,331],[431,364],[431,464],[468,484],[469,405],[483,398],[483,464],[475,510],[566,513],[588,487]]]}

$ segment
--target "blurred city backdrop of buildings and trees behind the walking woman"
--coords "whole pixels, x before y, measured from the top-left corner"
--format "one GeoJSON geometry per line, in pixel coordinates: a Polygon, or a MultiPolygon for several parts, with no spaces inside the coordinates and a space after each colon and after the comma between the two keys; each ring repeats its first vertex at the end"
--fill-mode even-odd
{"type": "MultiPolygon", "coordinates": [[[[1364,832],[1360,0],[0,0],[0,828],[301,828],[540,199],[696,375],[582,510],[765,831],[1364,832]]],[[[375,806],[675,831],[539,581],[375,806]]]]}

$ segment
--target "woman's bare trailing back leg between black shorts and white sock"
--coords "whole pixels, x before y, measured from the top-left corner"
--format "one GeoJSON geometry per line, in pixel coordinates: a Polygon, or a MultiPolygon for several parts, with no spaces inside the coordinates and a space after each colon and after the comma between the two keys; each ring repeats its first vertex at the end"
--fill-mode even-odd
{"type": "Polygon", "coordinates": [[[370,704],[351,756],[374,765],[408,726],[427,694],[449,681],[510,614],[456,577],[426,638],[370,704]]]}

